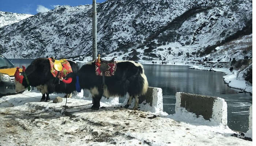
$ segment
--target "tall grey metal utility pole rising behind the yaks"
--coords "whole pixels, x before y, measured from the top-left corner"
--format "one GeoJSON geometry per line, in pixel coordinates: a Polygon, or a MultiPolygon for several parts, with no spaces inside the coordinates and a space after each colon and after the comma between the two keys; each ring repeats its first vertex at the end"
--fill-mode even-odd
{"type": "Polygon", "coordinates": [[[96,0],[93,0],[93,60],[97,58],[97,11],[96,0]]]}

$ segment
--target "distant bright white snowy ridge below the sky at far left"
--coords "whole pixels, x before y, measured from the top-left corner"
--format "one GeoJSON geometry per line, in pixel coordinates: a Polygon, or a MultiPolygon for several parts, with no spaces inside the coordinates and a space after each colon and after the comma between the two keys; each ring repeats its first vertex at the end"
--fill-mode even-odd
{"type": "Polygon", "coordinates": [[[0,27],[19,22],[20,20],[29,18],[31,16],[33,16],[33,15],[0,11],[0,27]]]}

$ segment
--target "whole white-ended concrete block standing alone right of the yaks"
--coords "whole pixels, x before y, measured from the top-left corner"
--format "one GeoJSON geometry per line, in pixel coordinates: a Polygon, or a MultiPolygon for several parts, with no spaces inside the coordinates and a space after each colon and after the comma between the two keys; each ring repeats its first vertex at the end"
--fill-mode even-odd
{"type": "Polygon", "coordinates": [[[227,103],[222,98],[177,92],[175,111],[181,107],[197,116],[202,115],[206,120],[214,119],[227,125],[227,103]]]}

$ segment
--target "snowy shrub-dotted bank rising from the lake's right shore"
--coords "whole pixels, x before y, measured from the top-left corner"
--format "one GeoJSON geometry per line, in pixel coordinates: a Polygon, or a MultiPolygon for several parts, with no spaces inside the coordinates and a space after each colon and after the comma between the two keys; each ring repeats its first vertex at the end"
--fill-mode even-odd
{"type": "MultiPolygon", "coordinates": [[[[233,88],[238,88],[246,92],[252,93],[252,84],[246,82],[244,73],[252,68],[252,34],[246,35],[234,41],[230,41],[223,46],[215,48],[215,51],[206,56],[212,61],[206,61],[200,64],[199,62],[189,62],[191,68],[207,69],[221,71],[227,74],[224,76],[224,81],[233,88]],[[248,56],[248,59],[244,59],[248,56]],[[232,64],[233,58],[236,63],[232,64]],[[231,61],[230,61],[231,59],[231,61]],[[193,64],[192,64],[193,63],[193,64]],[[234,71],[230,72],[229,68],[233,66],[234,71]]],[[[203,58],[200,58],[201,60],[203,58]]]]}

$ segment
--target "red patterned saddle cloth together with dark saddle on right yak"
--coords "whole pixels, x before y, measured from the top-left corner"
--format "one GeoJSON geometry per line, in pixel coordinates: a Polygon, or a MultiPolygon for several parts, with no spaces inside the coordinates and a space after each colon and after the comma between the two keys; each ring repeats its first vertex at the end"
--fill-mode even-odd
{"type": "Polygon", "coordinates": [[[105,71],[104,76],[110,77],[114,76],[114,73],[116,72],[116,61],[113,62],[100,62],[95,61],[95,73],[96,76],[102,76],[102,72],[105,71]]]}

